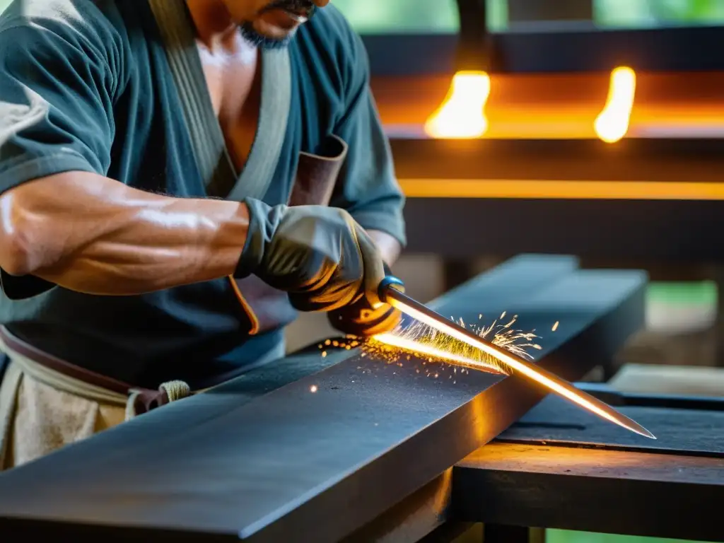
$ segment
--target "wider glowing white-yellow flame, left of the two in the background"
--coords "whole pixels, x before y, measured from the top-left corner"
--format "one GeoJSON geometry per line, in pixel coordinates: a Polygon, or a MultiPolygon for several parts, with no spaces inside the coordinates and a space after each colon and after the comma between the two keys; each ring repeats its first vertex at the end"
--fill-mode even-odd
{"type": "Polygon", "coordinates": [[[480,138],[488,130],[485,104],[490,96],[486,72],[463,71],[452,77],[447,98],[427,119],[431,138],[480,138]]]}

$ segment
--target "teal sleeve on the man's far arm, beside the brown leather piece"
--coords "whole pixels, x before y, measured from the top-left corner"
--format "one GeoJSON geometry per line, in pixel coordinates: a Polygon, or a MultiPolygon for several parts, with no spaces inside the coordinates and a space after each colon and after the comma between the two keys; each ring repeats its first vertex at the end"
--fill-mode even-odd
{"type": "MultiPolygon", "coordinates": [[[[350,33],[352,34],[352,33],[350,33]]],[[[406,243],[405,197],[395,177],[390,142],[369,86],[369,61],[358,35],[351,35],[353,55],[348,67],[346,109],[335,134],[349,146],[332,206],[346,209],[366,230],[380,230],[406,243]]]]}

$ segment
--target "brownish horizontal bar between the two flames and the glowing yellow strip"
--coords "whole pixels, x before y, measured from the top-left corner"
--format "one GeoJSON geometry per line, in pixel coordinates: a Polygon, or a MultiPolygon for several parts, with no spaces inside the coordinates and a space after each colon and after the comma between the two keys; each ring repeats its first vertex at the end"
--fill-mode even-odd
{"type": "Polygon", "coordinates": [[[719,138],[393,139],[402,180],[722,182],[719,138]]]}

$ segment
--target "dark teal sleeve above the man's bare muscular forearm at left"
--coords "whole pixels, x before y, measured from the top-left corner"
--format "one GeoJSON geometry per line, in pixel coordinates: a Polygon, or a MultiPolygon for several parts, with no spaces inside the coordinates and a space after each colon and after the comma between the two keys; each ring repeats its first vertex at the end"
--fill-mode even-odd
{"type": "Polygon", "coordinates": [[[0,27],[0,193],[62,172],[107,172],[112,79],[70,23],[0,27]]]}

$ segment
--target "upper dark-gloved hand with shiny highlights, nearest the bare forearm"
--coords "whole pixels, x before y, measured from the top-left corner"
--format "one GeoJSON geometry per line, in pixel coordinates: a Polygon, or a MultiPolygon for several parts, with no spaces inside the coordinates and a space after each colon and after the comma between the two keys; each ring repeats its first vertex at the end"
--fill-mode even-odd
{"type": "Polygon", "coordinates": [[[235,277],[256,274],[288,292],[300,311],[334,311],[363,299],[379,304],[382,256],[347,211],[244,203],[249,230],[235,277]]]}

